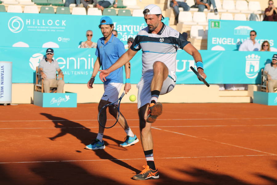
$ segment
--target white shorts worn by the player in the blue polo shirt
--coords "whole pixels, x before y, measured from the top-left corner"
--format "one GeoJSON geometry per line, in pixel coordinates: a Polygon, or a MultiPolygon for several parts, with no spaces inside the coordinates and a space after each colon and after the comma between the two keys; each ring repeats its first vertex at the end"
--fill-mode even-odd
{"type": "MultiPolygon", "coordinates": [[[[103,94],[101,100],[106,100],[106,101],[110,101],[110,102],[117,101],[121,86],[122,86],[122,83],[104,84],[104,94],[103,94]]],[[[118,104],[118,103],[116,103],[116,104],[118,104]]]]}

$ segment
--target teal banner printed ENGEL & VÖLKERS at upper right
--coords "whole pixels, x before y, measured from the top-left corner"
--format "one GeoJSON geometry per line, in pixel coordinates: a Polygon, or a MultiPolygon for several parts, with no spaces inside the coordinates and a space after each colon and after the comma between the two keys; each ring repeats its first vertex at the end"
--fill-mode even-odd
{"type": "Polygon", "coordinates": [[[209,20],[208,50],[238,51],[240,44],[257,32],[256,41],[267,40],[271,51],[277,51],[276,23],[271,21],[209,20]]]}

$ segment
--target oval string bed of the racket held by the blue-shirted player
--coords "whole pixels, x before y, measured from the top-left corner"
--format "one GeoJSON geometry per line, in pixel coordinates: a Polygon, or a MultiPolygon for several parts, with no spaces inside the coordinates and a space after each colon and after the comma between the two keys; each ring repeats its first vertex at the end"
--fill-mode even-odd
{"type": "Polygon", "coordinates": [[[105,128],[114,126],[118,119],[118,109],[116,105],[104,107],[99,113],[99,123],[105,128]]]}

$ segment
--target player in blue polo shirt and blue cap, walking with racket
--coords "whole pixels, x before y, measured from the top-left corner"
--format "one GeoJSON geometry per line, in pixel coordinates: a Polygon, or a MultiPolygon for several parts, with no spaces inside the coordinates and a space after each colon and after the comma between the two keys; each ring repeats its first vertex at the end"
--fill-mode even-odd
{"type": "MultiPolygon", "coordinates": [[[[90,80],[87,83],[87,87],[93,88],[92,84],[94,82],[94,78],[98,73],[98,70],[100,69],[100,66],[102,66],[102,69],[109,68],[112,64],[114,64],[121,55],[125,53],[124,44],[116,38],[112,31],[114,29],[114,24],[112,22],[112,19],[108,16],[102,17],[100,20],[99,28],[101,29],[101,32],[104,37],[98,39],[97,41],[97,48],[95,51],[95,55],[97,56],[97,59],[94,64],[92,76],[90,77],[90,80]]],[[[125,93],[129,92],[131,88],[130,84],[130,63],[125,64],[125,73],[126,73],[126,83],[124,87],[125,93]]],[[[117,70],[110,73],[110,76],[106,78],[106,81],[104,82],[104,94],[99,102],[98,105],[98,111],[101,110],[101,108],[111,102],[114,102],[118,100],[119,91],[121,89],[121,86],[123,84],[123,69],[118,68],[117,70]]],[[[125,141],[120,144],[119,146],[127,147],[130,145],[133,145],[137,142],[139,142],[139,139],[134,135],[131,128],[128,126],[126,119],[122,114],[120,114],[118,123],[122,126],[122,128],[125,130],[127,136],[125,141]]],[[[98,135],[94,142],[86,146],[86,149],[89,150],[97,150],[97,149],[104,149],[105,144],[103,141],[103,133],[104,128],[100,125],[98,130],[98,135]]]]}

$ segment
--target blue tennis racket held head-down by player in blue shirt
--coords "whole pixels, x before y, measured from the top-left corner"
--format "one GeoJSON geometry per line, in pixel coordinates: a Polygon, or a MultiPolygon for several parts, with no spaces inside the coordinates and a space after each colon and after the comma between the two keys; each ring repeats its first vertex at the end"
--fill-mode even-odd
{"type": "Polygon", "coordinates": [[[118,122],[118,118],[120,115],[119,105],[124,95],[125,95],[125,92],[122,93],[122,95],[118,98],[117,101],[105,105],[99,111],[98,122],[103,128],[106,128],[106,129],[111,128],[118,122]],[[118,102],[118,105],[116,105],[117,102],[118,102]]]}

